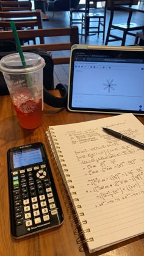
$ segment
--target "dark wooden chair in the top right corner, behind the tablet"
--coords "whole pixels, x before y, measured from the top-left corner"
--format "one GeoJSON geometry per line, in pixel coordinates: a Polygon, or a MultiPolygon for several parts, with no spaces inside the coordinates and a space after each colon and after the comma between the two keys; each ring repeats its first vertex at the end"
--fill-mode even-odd
{"type": "Polygon", "coordinates": [[[128,12],[128,19],[126,20],[126,23],[113,23],[113,19],[115,17],[115,10],[122,10],[120,9],[121,4],[132,5],[134,4],[134,0],[125,0],[122,1],[122,3],[121,0],[109,0],[110,20],[105,45],[107,45],[109,42],[114,41],[121,41],[121,45],[125,45],[126,35],[132,35],[135,37],[137,31],[144,29],[144,24],[137,24],[131,22],[132,11],[128,12]],[[113,30],[117,30],[115,31],[115,34],[113,34],[113,30]],[[123,32],[122,37],[117,35],[118,31],[123,32]]]}

